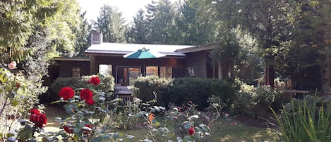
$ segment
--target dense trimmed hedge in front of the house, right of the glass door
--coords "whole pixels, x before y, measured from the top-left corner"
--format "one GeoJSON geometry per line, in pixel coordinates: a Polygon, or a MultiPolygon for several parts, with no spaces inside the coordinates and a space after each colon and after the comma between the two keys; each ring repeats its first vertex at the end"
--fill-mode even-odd
{"type": "Polygon", "coordinates": [[[153,91],[157,93],[157,101],[161,105],[175,102],[177,105],[192,101],[203,110],[208,107],[207,99],[212,95],[221,97],[227,107],[233,102],[234,88],[229,81],[207,78],[175,78],[166,79],[157,76],[138,78],[135,83],[138,97],[143,101],[153,98],[153,91]]]}

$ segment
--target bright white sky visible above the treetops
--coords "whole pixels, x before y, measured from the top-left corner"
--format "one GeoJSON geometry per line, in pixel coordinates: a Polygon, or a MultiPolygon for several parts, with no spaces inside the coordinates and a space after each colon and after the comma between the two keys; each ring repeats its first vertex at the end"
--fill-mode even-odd
{"type": "Polygon", "coordinates": [[[151,1],[152,0],[78,0],[78,3],[80,4],[82,11],[87,11],[86,18],[88,18],[89,22],[90,20],[97,20],[100,7],[104,4],[109,4],[110,6],[116,6],[119,8],[126,23],[130,23],[133,20],[133,16],[136,16],[137,11],[140,8],[145,8],[145,6],[150,4],[151,1]]]}

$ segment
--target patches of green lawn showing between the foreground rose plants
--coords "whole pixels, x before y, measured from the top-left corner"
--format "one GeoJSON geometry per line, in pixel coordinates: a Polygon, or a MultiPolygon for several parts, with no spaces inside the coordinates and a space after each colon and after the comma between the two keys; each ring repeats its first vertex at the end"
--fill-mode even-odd
{"type": "MultiPolygon", "coordinates": [[[[58,117],[59,114],[65,114],[61,110],[61,107],[47,107],[45,110],[47,117],[48,117],[48,124],[47,127],[44,129],[46,131],[59,131],[59,124],[57,124],[54,121],[55,117],[58,117]]],[[[159,121],[161,121],[163,118],[157,118],[159,121]],[[161,119],[161,120],[160,120],[161,119]]],[[[220,118],[217,120],[216,126],[212,128],[211,136],[207,137],[207,141],[242,141],[242,142],[255,142],[255,141],[277,141],[276,133],[273,129],[267,129],[267,128],[261,128],[261,127],[255,127],[255,126],[248,126],[246,124],[243,124],[236,120],[231,120],[229,122],[229,119],[223,119],[220,118]]],[[[171,126],[167,126],[170,131],[172,131],[174,128],[171,126]]],[[[136,139],[144,139],[144,136],[149,134],[149,131],[146,127],[142,129],[135,129],[135,130],[126,130],[126,131],[117,131],[121,134],[131,134],[133,136],[136,136],[136,139]]],[[[174,132],[170,133],[168,136],[170,136],[171,139],[175,139],[174,132]]]]}

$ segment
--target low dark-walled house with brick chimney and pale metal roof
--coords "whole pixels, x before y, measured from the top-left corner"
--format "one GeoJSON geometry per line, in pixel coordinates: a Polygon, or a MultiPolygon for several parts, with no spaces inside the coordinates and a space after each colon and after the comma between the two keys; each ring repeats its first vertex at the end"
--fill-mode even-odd
{"type": "MultiPolygon", "coordinates": [[[[133,85],[138,76],[160,76],[164,78],[198,77],[223,78],[219,62],[212,61],[212,50],[219,44],[194,45],[148,45],[102,42],[102,33],[92,32],[91,46],[85,50],[88,59],[55,58],[61,65],[59,77],[89,74],[107,74],[115,78],[116,84],[133,85]],[[165,57],[152,59],[126,59],[124,55],[138,49],[150,49],[165,57]]],[[[224,72],[224,71],[223,71],[224,72]]]]}

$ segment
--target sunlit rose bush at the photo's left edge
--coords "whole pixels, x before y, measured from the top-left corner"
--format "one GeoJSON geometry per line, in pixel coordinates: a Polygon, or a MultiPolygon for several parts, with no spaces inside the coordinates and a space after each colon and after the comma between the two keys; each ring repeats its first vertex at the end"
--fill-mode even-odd
{"type": "MultiPolygon", "coordinates": [[[[20,133],[15,131],[22,130],[20,124],[25,128],[28,120],[20,118],[29,114],[29,110],[39,102],[38,95],[46,89],[42,87],[42,83],[26,78],[20,73],[15,61],[6,66],[0,64],[0,141],[22,139],[22,136],[18,136],[20,133]]],[[[42,114],[38,117],[37,123],[30,122],[30,126],[26,127],[33,128],[34,125],[38,125],[38,128],[41,128],[47,122],[46,119],[42,114]]],[[[32,136],[32,129],[25,131],[28,130],[32,136]]]]}

